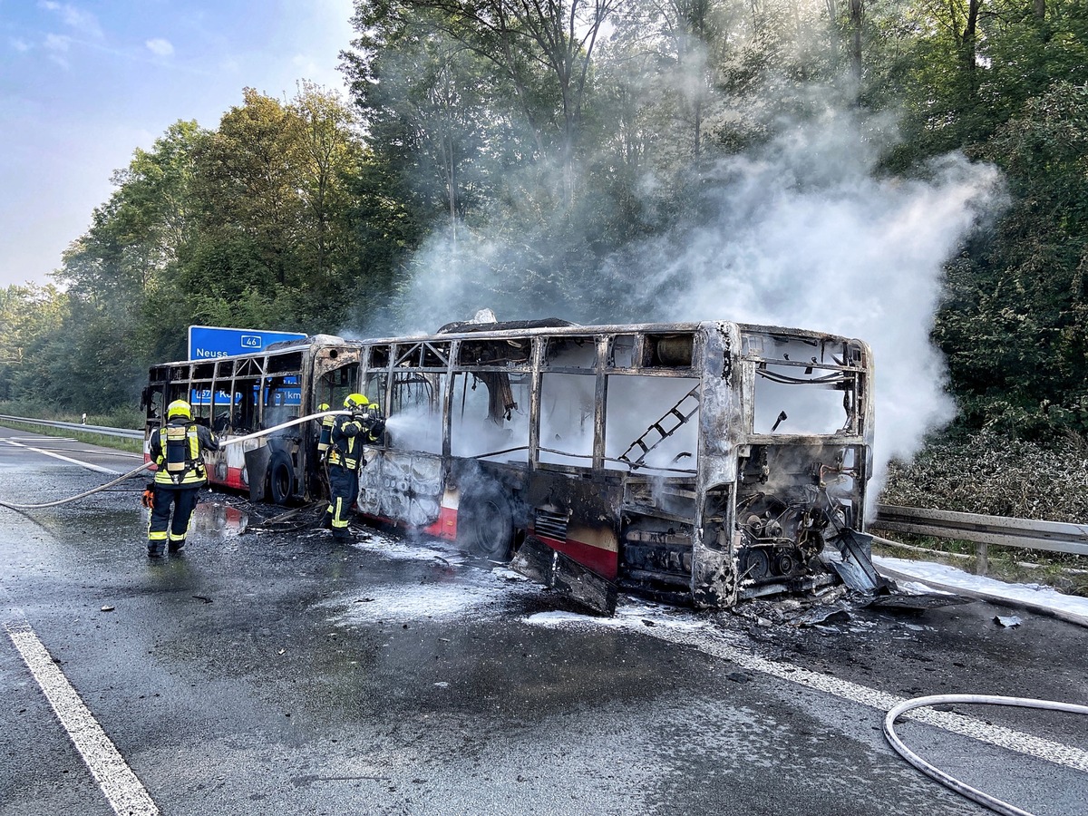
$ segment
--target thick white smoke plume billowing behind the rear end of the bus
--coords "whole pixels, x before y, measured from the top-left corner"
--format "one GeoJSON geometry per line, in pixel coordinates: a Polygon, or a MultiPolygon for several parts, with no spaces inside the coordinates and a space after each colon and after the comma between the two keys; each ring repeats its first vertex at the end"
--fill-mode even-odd
{"type": "MultiPolygon", "coordinates": [[[[930,342],[942,267],[1000,206],[991,165],[962,156],[925,181],[879,178],[860,124],[833,116],[722,162],[716,218],[642,246],[613,276],[668,292],[655,316],[799,326],[867,342],[877,371],[877,459],[910,459],[954,417],[930,342]],[[626,269],[625,269],[626,268],[626,269]]],[[[632,293],[633,294],[633,293],[632,293]]]]}

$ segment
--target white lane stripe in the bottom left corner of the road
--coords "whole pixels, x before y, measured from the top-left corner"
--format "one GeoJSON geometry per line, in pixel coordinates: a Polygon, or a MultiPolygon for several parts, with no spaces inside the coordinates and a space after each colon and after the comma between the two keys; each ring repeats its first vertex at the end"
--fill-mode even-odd
{"type": "Polygon", "coordinates": [[[64,726],[76,751],[87,763],[98,787],[121,816],[158,816],[156,806],[147,789],[136,774],[125,763],[98,720],[90,713],[79,694],[57,668],[49,652],[26,622],[4,623],[3,628],[23,655],[27,668],[38,681],[46,698],[64,726]]]}

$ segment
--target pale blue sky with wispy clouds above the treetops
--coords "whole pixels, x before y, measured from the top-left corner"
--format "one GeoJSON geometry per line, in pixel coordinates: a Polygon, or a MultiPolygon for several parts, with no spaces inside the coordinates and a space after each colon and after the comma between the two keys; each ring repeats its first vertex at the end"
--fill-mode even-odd
{"type": "Polygon", "coordinates": [[[48,283],[178,120],[215,127],[243,88],[343,89],[351,0],[0,0],[0,286],[48,283]]]}

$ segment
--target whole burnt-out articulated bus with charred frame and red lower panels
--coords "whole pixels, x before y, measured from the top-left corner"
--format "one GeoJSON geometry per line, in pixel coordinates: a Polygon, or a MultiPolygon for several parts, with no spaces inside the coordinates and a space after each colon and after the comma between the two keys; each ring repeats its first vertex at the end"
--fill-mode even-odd
{"type": "MultiPolygon", "coordinates": [[[[817,332],[543,320],[165,363],[145,405],[148,435],[182,397],[230,438],[366,394],[386,415],[360,475],[369,519],[597,609],[619,590],[727,608],[879,582],[862,533],[871,383],[866,344],[817,332]]],[[[321,498],[316,425],[209,454],[211,481],[321,498]]]]}

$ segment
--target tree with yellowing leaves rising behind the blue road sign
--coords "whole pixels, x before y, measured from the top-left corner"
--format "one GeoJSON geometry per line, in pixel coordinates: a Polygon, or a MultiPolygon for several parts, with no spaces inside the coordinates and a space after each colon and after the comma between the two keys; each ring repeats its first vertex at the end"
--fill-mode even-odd
{"type": "Polygon", "coordinates": [[[226,302],[275,302],[269,329],[320,329],[346,312],[366,275],[350,263],[350,176],[361,145],[350,111],[335,94],[300,83],[287,102],[251,88],[197,153],[194,194],[200,228],[182,268],[195,317],[226,302]],[[286,308],[289,307],[289,308],[286,308]]]}

